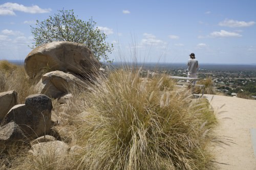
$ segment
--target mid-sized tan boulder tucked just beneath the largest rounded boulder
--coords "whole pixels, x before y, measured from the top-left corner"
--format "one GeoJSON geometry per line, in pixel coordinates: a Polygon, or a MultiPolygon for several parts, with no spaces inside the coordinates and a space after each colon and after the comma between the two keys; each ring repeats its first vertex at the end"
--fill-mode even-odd
{"type": "Polygon", "coordinates": [[[42,76],[37,83],[38,93],[48,95],[50,98],[59,98],[67,94],[68,89],[78,88],[84,85],[76,76],[63,71],[51,71],[42,76]]]}

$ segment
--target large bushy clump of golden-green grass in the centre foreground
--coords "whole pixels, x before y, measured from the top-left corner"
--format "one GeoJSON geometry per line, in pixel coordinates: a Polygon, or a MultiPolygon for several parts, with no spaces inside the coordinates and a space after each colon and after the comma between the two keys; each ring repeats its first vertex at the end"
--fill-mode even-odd
{"type": "Polygon", "coordinates": [[[166,81],[141,81],[134,70],[99,80],[78,127],[84,147],[78,169],[213,169],[207,151],[213,112],[166,81]]]}

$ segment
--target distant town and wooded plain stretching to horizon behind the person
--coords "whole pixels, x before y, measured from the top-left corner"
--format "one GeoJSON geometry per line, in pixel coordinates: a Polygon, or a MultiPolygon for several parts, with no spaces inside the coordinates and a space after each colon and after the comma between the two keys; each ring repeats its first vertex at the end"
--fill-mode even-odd
{"type": "MultiPolygon", "coordinates": [[[[148,70],[151,74],[166,74],[170,76],[187,76],[185,63],[146,63],[138,64],[142,74],[148,70]]],[[[243,94],[248,99],[256,100],[256,65],[223,65],[201,64],[198,69],[198,78],[211,78],[217,92],[228,96],[243,94]]]]}

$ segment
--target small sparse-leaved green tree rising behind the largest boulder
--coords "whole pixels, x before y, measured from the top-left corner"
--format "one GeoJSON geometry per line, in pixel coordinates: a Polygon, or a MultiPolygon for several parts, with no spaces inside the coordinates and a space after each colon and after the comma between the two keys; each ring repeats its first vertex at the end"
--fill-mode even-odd
{"type": "Polygon", "coordinates": [[[113,44],[105,42],[106,34],[96,27],[93,19],[82,21],[72,10],[58,10],[59,13],[49,16],[44,21],[36,20],[36,27],[31,27],[34,46],[53,41],[72,41],[83,43],[100,60],[112,63],[107,56],[113,51],[113,44]]]}

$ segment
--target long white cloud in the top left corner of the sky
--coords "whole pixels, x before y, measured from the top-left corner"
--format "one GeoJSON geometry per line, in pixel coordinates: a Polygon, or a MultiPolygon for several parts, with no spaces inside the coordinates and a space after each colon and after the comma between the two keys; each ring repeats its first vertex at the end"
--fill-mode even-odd
{"type": "Polygon", "coordinates": [[[51,11],[51,9],[50,8],[41,9],[37,5],[26,7],[22,4],[17,4],[17,3],[5,3],[0,5],[0,15],[15,15],[14,11],[35,14],[35,13],[48,13],[51,11]]]}

